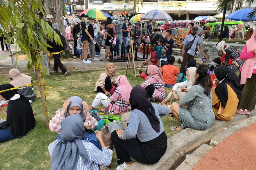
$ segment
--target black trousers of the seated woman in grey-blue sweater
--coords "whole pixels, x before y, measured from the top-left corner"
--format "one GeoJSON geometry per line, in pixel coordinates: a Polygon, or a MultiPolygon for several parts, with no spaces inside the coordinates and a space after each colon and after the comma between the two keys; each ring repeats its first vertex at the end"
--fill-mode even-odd
{"type": "MultiPolygon", "coordinates": [[[[163,132],[164,133],[164,132],[163,132]]],[[[165,133],[164,133],[165,135],[165,133]]],[[[111,134],[111,140],[116,149],[117,159],[122,159],[125,162],[131,162],[132,159],[139,161],[144,164],[154,164],[158,162],[161,157],[164,155],[167,149],[167,137],[161,140],[164,141],[165,146],[161,150],[151,149],[146,143],[140,142],[140,140],[132,138],[123,140],[117,136],[116,130],[114,130],[111,134]],[[131,156],[131,157],[130,157],[131,156]]],[[[157,143],[155,144],[157,145],[157,143]]],[[[154,146],[152,145],[154,148],[154,146]]]]}

